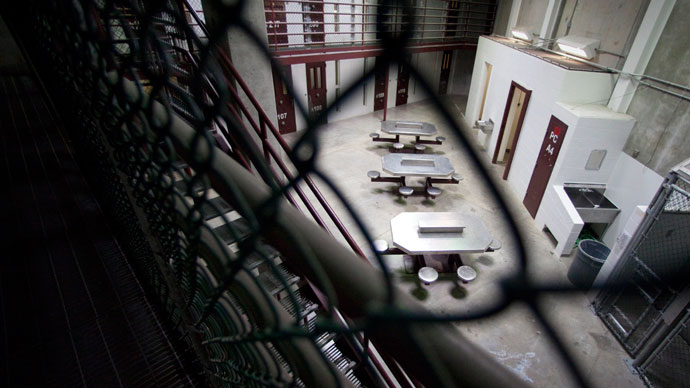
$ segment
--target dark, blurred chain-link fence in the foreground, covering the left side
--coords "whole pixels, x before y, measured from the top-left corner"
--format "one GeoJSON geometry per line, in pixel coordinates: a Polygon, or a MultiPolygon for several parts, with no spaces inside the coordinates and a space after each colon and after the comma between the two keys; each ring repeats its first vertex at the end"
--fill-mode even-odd
{"type": "MultiPolygon", "coordinates": [[[[245,1],[204,3],[217,10],[219,25],[244,31],[271,59],[238,16],[245,1]]],[[[409,16],[405,23],[413,23],[418,9],[411,4],[419,3],[395,2],[409,16]]],[[[587,386],[537,303],[541,292],[571,288],[528,280],[520,234],[494,186],[498,209],[518,238],[519,271],[500,284],[503,298],[491,306],[429,313],[395,292],[379,255],[377,271],[283,202],[294,204],[288,194],[311,177],[344,198],[315,164],[315,132],[328,110],[308,118],[289,154],[296,169],[289,174],[270,159],[265,139],[257,146],[256,136],[271,123],[261,115],[251,122],[237,98],[242,81],[217,48],[226,28],[205,31],[185,1],[28,0],[20,8],[13,13],[17,35],[68,122],[129,257],[198,355],[209,385],[521,386],[449,323],[524,302],[575,381],[587,386]]],[[[453,123],[420,69],[407,62],[413,29],[378,31],[383,55],[409,66],[453,123]]],[[[365,72],[340,98],[372,76],[373,69],[365,72]]],[[[491,181],[463,132],[455,125],[453,131],[491,181]]]]}

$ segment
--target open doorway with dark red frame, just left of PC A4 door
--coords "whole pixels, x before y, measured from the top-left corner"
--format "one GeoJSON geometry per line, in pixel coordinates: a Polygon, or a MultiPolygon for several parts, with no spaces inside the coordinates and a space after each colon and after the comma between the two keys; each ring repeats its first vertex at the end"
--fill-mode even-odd
{"type": "Polygon", "coordinates": [[[531,95],[531,90],[527,90],[515,82],[510,83],[501,129],[498,132],[496,148],[494,148],[494,155],[491,159],[491,163],[505,165],[503,179],[508,179],[510,165],[513,162],[515,147],[520,137],[520,131],[522,131],[522,123],[525,120],[531,95]]]}

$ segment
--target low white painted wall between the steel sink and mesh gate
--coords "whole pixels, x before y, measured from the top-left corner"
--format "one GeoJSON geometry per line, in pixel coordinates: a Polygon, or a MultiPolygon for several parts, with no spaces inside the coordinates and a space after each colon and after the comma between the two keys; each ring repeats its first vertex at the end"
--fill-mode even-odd
{"type": "Polygon", "coordinates": [[[621,209],[616,220],[604,235],[603,241],[612,247],[637,206],[647,206],[654,198],[664,177],[622,152],[606,183],[607,198],[621,209]]]}

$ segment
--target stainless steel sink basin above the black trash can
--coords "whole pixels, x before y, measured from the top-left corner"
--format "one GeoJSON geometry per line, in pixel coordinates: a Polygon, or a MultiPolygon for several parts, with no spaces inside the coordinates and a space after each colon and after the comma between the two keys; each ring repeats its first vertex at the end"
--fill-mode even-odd
{"type": "Polygon", "coordinates": [[[604,196],[602,189],[578,186],[566,186],[564,189],[586,223],[610,224],[620,212],[618,206],[604,196]]]}

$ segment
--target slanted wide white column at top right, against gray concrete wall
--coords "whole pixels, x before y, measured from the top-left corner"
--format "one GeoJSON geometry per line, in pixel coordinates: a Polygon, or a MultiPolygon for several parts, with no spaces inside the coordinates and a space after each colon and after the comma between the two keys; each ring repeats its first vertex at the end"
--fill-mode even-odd
{"type": "MultiPolygon", "coordinates": [[[[642,19],[635,41],[623,65],[623,72],[642,74],[645,71],[675,4],[676,0],[650,1],[647,13],[642,19]]],[[[684,38],[679,37],[679,39],[684,38]]],[[[636,88],[637,82],[635,80],[625,75],[618,77],[618,82],[616,82],[616,87],[613,89],[609,100],[609,109],[616,112],[627,112],[636,88]]]]}

